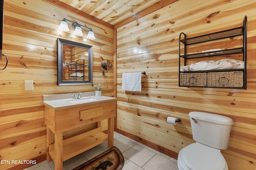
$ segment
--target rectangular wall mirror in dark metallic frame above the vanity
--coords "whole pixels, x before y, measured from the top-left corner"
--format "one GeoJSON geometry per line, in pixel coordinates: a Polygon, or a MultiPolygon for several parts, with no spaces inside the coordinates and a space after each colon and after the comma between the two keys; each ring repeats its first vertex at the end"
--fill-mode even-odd
{"type": "Polygon", "coordinates": [[[92,46],[58,38],[58,85],[92,84],[92,46]]]}

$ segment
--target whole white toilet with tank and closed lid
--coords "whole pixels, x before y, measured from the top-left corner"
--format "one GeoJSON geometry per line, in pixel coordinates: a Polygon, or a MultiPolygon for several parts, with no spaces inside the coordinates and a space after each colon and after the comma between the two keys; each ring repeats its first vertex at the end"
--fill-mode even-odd
{"type": "Polygon", "coordinates": [[[180,150],[179,170],[228,170],[220,149],[228,148],[233,120],[230,117],[192,111],[189,113],[196,143],[180,150]]]}

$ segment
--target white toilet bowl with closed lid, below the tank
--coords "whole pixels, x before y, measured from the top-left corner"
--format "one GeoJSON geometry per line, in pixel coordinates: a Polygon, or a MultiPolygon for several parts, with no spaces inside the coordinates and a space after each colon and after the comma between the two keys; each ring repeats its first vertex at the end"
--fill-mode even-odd
{"type": "Polygon", "coordinates": [[[183,148],[178,159],[184,170],[228,170],[226,160],[219,149],[200,143],[183,148]]]}

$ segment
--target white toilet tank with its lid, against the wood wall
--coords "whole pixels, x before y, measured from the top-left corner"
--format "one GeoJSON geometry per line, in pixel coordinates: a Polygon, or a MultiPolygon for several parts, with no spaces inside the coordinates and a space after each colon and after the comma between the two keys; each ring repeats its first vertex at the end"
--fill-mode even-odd
{"type": "Polygon", "coordinates": [[[231,127],[230,117],[192,111],[189,113],[193,139],[209,147],[227,149],[231,127]]]}

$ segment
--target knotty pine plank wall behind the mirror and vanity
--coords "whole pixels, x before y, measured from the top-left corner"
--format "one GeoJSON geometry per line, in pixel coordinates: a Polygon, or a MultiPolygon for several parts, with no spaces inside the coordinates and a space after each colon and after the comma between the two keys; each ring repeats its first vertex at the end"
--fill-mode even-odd
{"type": "MultiPolygon", "coordinates": [[[[84,37],[88,30],[83,29],[84,37]]],[[[93,46],[93,82],[102,94],[113,96],[113,71],[102,76],[100,63],[113,62],[113,28],[90,21],[42,0],[4,0],[3,53],[9,58],[0,70],[0,160],[45,160],[46,128],[43,95],[93,91],[92,85],[57,86],[57,38],[93,46]],[[95,40],[71,37],[73,29],[58,34],[66,18],[92,28],[95,40]],[[34,80],[34,91],[24,91],[24,80],[34,80]]],[[[0,67],[4,63],[0,62],[0,67]]],[[[102,123],[104,124],[104,123],[102,123]]],[[[5,169],[15,164],[0,164],[5,169]]],[[[23,169],[20,165],[16,169],[23,169]]]]}

